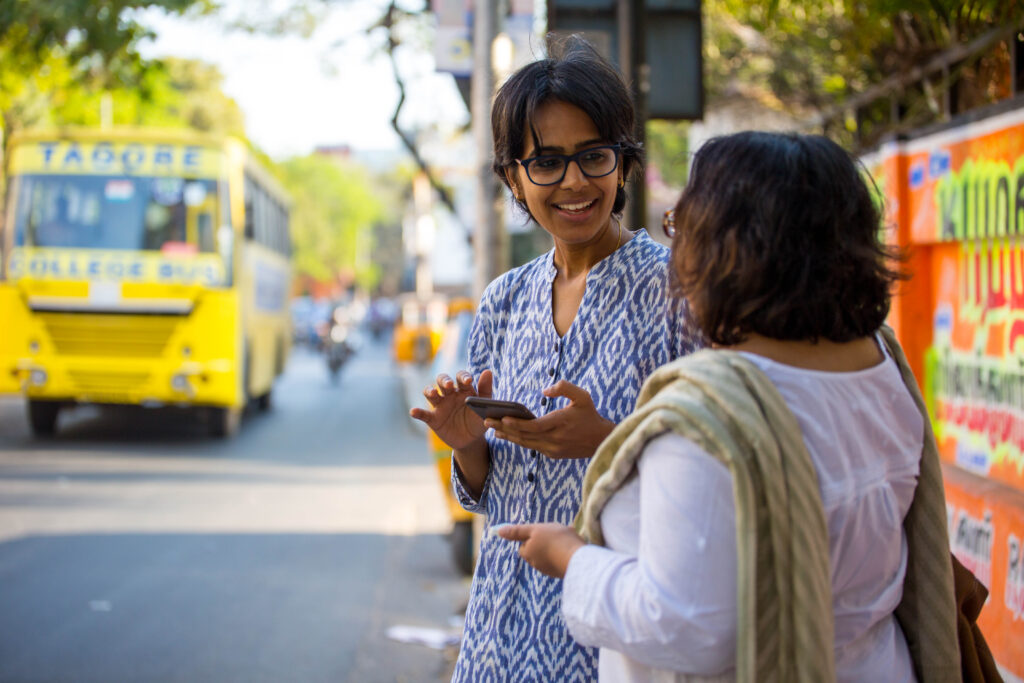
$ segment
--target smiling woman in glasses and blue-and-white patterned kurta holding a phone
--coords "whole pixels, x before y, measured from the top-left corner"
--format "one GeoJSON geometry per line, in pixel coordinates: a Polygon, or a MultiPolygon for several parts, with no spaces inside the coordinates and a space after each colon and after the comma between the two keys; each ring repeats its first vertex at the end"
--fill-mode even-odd
{"type": "MultiPolygon", "coordinates": [[[[470,367],[424,394],[426,422],[453,449],[462,505],[505,523],[570,523],[597,445],[644,379],[692,350],[670,305],[668,249],[625,226],[624,185],[639,171],[630,93],[585,41],[570,38],[499,90],[494,170],[553,249],[493,282],[469,342],[470,367]],[[483,421],[468,396],[515,400],[534,420],[483,421]]],[[[559,615],[560,582],[485,533],[456,681],[590,681],[595,648],[559,615]]]]}

